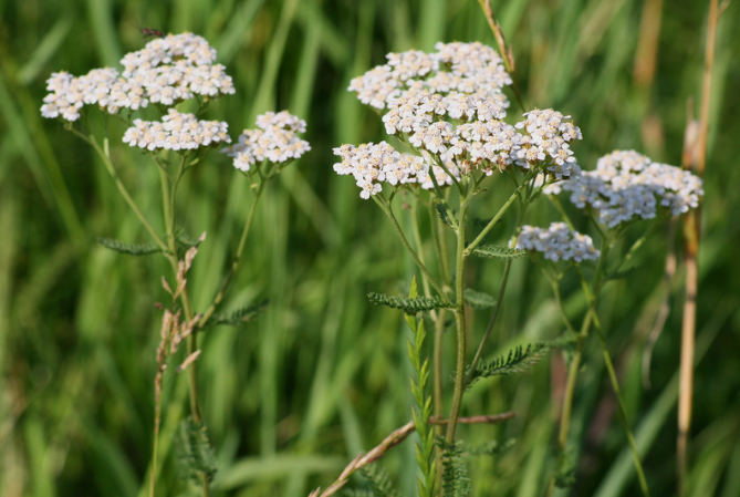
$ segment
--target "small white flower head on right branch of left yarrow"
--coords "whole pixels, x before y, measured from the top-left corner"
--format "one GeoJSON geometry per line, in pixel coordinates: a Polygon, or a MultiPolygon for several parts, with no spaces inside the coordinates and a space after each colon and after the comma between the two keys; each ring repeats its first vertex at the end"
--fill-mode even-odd
{"type": "Polygon", "coordinates": [[[305,121],[288,111],[259,115],[257,126],[257,130],[244,130],[239,136],[239,143],[222,151],[233,157],[233,167],[237,169],[249,170],[262,161],[285,163],[311,149],[309,142],[296,135],[305,133],[305,121]]]}

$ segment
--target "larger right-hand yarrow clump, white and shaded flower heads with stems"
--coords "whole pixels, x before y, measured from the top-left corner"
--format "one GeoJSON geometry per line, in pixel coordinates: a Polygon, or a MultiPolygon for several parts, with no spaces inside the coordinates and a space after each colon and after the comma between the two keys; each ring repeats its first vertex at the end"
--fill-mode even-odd
{"type": "MultiPolygon", "coordinates": [[[[572,146],[583,135],[570,116],[551,108],[530,110],[514,118],[513,124],[508,122],[510,105],[502,90],[511,84],[512,77],[504,70],[501,56],[480,43],[438,43],[434,53],[415,50],[390,53],[385,64],[352,80],[348,90],[362,103],[379,112],[385,132],[394,136],[393,143],[397,145],[392,145],[388,139],[344,144],[334,148],[334,154],[340,157],[334,170],[352,176],[361,198],[373,199],[381,207],[423,275],[424,291],[418,294],[414,284],[409,297],[369,296],[374,303],[402,309],[413,332],[409,358],[416,372],[411,382],[416,406],[411,408],[411,414],[415,429],[421,435],[417,446],[421,496],[439,495],[442,490],[445,495],[450,491],[467,495],[470,490],[460,442],[456,439],[467,386],[482,377],[524,371],[550,349],[574,343],[576,352],[570,360],[561,414],[561,463],[553,472],[548,494],[552,494],[555,485],[572,484],[572,468],[566,467],[565,457],[570,454],[569,422],[575,375],[592,328],[602,339],[605,362],[613,373],[596,315],[598,296],[608,277],[619,271],[652,230],[621,257],[612,253],[613,249],[617,240],[625,237],[626,228],[637,220],[665,220],[686,213],[697,207],[702,195],[698,177],[673,166],[653,163],[632,151],[613,152],[597,162],[595,170],[582,170],[572,146]],[[487,186],[489,182],[496,189],[506,188],[507,179],[511,182],[508,200],[493,216],[489,216],[482,229],[473,229],[468,214],[473,198],[484,198],[482,194],[491,188],[487,186]],[[598,234],[597,242],[575,229],[557,200],[560,193],[570,194],[575,207],[592,217],[598,234]],[[394,211],[393,200],[398,196],[411,204],[411,240],[394,211]],[[524,225],[529,206],[545,197],[557,207],[563,219],[546,228],[524,225]],[[426,244],[420,235],[419,218],[424,214],[419,207],[423,205],[427,206],[427,217],[432,227],[431,244],[426,244]],[[487,242],[491,230],[513,205],[518,206],[518,211],[509,245],[487,242]],[[434,253],[426,252],[428,247],[434,248],[434,253]],[[451,253],[450,247],[455,247],[451,253]],[[501,309],[512,260],[525,253],[539,265],[551,283],[569,332],[552,342],[534,344],[527,350],[517,349],[508,356],[483,361],[486,345],[501,309]],[[465,268],[470,256],[503,262],[502,280],[498,289],[493,289],[496,297],[467,287],[465,268]],[[432,268],[431,262],[436,262],[437,267],[432,268]],[[575,269],[582,279],[588,302],[580,330],[575,329],[565,312],[560,292],[560,281],[571,269],[575,269]],[[585,279],[585,271],[593,272],[592,281],[585,279]],[[477,309],[492,307],[475,354],[469,354],[467,344],[470,330],[466,304],[477,309]],[[427,319],[434,323],[431,358],[425,358],[421,346],[426,336],[425,319],[414,318],[421,311],[428,312],[427,319]],[[456,328],[451,393],[446,392],[441,374],[447,312],[455,314],[456,328]],[[432,363],[429,366],[430,360],[432,363]],[[434,383],[430,392],[425,389],[429,367],[434,383]],[[442,397],[449,398],[451,407],[444,439],[437,442],[441,449],[439,457],[432,449],[435,441],[429,436],[429,426],[444,415],[442,397]],[[441,478],[435,475],[441,475],[441,478]]],[[[618,396],[616,376],[611,376],[618,396]]],[[[621,406],[624,407],[622,403],[621,406]]],[[[640,486],[647,495],[624,408],[622,414],[640,486]]],[[[441,428],[437,428],[437,434],[442,435],[441,428]]],[[[333,486],[323,493],[316,490],[312,496],[332,495],[363,464],[366,463],[353,462],[333,486]]]]}

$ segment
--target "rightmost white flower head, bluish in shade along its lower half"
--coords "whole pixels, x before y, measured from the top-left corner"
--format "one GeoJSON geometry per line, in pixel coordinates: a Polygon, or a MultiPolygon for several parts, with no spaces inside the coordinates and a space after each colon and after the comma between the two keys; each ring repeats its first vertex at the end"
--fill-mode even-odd
{"type": "Polygon", "coordinates": [[[658,205],[679,215],[699,205],[701,179],[679,167],[652,162],[635,151],[615,151],[596,163],[596,170],[550,186],[548,194],[571,193],[579,208],[598,211],[613,228],[635,218],[652,219],[658,205]]]}

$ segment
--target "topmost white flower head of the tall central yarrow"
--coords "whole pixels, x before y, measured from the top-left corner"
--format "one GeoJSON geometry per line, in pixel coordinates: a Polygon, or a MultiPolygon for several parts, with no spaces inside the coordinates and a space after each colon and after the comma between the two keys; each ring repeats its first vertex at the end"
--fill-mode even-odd
{"type": "Polygon", "coordinates": [[[437,52],[411,50],[386,55],[388,62],[378,65],[350,82],[350,91],[364,104],[385,110],[396,104],[408,90],[429,93],[467,93],[491,97],[500,95],[504,107],[508,101],[501,89],[510,85],[501,56],[482,43],[437,43],[437,52]]]}

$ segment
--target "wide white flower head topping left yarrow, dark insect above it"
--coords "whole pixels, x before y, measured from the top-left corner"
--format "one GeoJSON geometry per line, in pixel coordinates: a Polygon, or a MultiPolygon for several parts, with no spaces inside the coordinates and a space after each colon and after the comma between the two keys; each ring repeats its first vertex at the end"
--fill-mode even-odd
{"type": "Polygon", "coordinates": [[[73,122],[80,118],[83,105],[97,104],[116,114],[122,108],[146,107],[149,102],[170,106],[196,95],[234,93],[231,76],[215,61],[216,50],[202,37],[183,33],[157,38],[143,50],[126,54],[121,74],[111,68],[94,69],[80,77],[53,73],[41,115],[73,122]]]}

